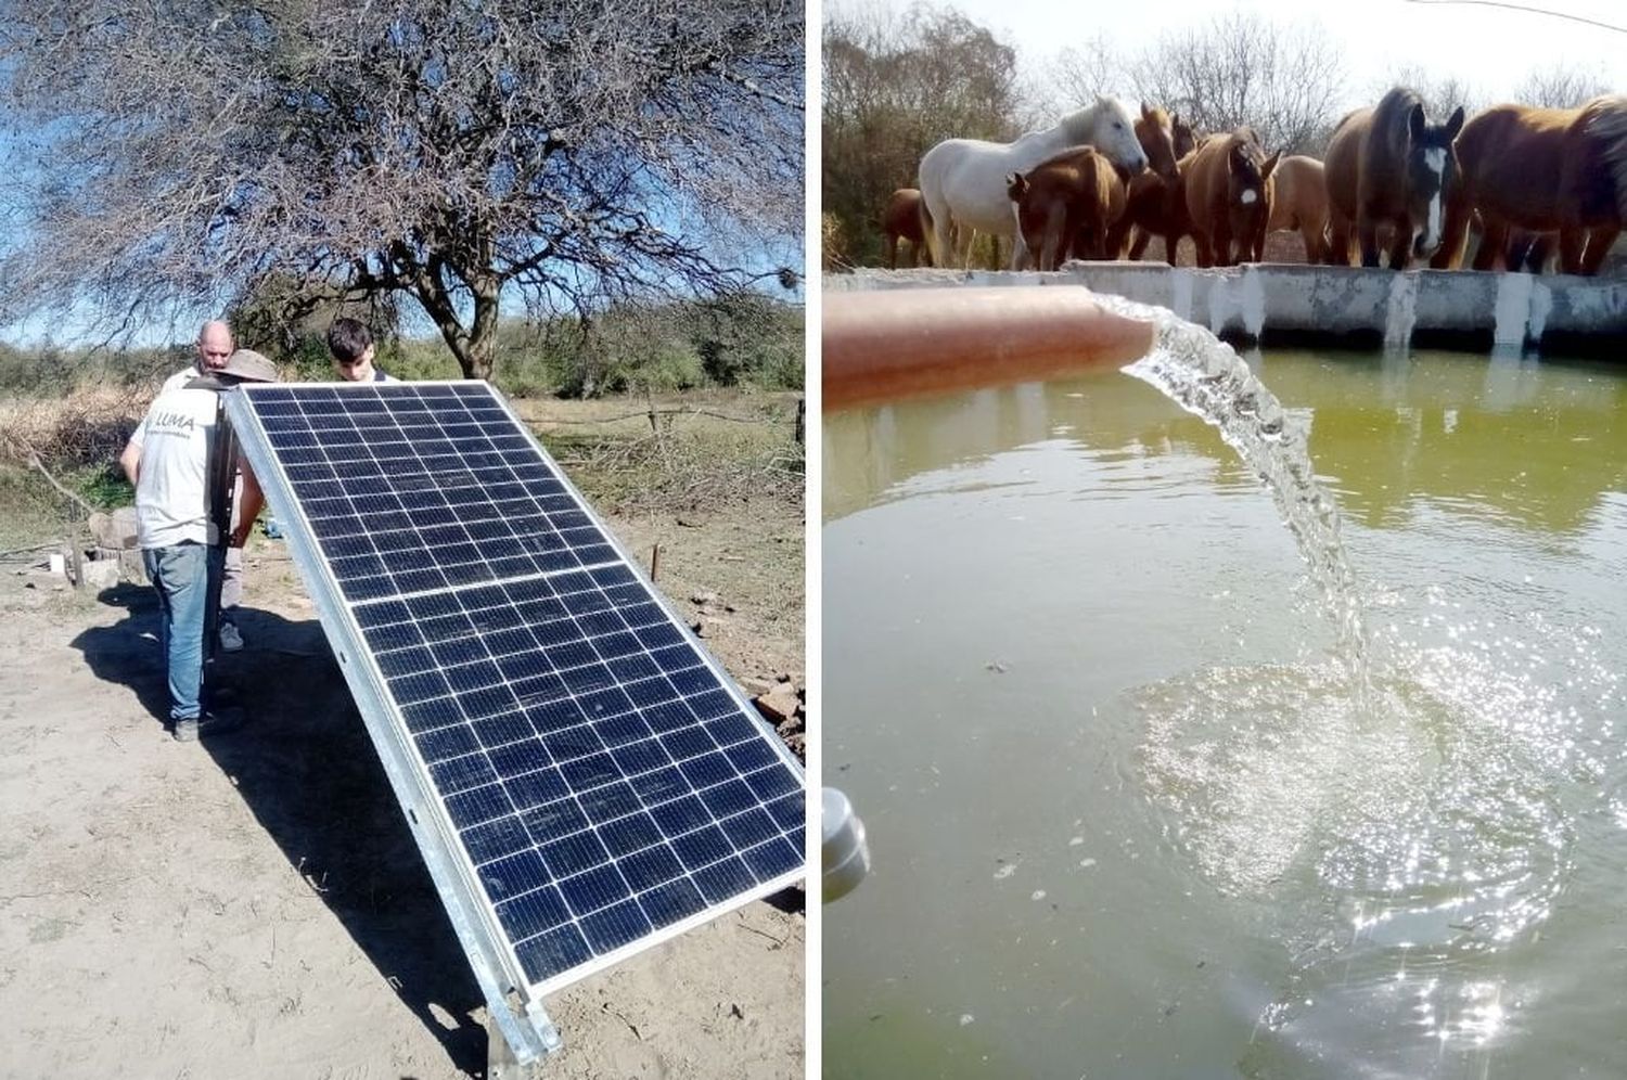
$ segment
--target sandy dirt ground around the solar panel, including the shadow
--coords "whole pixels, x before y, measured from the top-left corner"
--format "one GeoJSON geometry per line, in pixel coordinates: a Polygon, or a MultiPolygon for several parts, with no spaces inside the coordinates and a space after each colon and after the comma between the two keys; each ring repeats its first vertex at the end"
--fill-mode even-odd
{"type": "MultiPolygon", "coordinates": [[[[610,525],[661,545],[680,612],[732,608],[704,633],[737,678],[800,683],[797,507],[610,525]]],[[[202,743],[156,719],[150,587],[5,577],[0,1077],[483,1075],[480,991],[281,543],[220,662],[251,724],[202,743]]],[[[792,890],[550,997],[537,1075],[800,1077],[802,1004],[792,890]]]]}

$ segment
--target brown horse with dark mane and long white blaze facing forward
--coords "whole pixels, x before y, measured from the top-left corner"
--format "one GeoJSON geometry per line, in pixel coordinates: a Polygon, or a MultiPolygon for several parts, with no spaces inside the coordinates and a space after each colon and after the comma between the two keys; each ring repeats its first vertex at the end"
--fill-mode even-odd
{"type": "Polygon", "coordinates": [[[1404,86],[1339,120],[1323,159],[1333,262],[1350,262],[1352,224],[1363,267],[1378,265],[1383,224],[1391,228],[1391,270],[1406,267],[1409,254],[1435,254],[1445,231],[1443,202],[1456,185],[1459,130],[1463,106],[1445,124],[1430,124],[1424,101],[1404,86]]]}

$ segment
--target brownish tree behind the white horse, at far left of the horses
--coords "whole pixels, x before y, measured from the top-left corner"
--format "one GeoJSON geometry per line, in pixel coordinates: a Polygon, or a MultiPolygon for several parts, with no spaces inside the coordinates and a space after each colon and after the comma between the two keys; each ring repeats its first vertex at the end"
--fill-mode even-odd
{"type": "Polygon", "coordinates": [[[880,257],[879,215],[945,138],[1019,133],[1017,54],[965,15],[916,5],[830,13],[823,50],[823,210],[843,254],[880,257]]]}

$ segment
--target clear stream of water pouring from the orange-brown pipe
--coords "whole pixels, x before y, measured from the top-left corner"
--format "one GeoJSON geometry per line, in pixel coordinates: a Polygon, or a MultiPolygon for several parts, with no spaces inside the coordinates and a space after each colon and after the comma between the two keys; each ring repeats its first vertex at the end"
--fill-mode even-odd
{"type": "Polygon", "coordinates": [[[1124,368],[1150,382],[1181,408],[1214,425],[1271,491],[1284,524],[1316,584],[1321,610],[1337,634],[1337,657],[1357,696],[1367,698],[1367,626],[1357,599],[1355,574],[1339,540],[1339,507],[1316,481],[1305,446],[1306,425],[1254,377],[1248,364],[1214,333],[1114,296],[1097,298],[1103,307],[1155,324],[1152,353],[1124,368]]]}

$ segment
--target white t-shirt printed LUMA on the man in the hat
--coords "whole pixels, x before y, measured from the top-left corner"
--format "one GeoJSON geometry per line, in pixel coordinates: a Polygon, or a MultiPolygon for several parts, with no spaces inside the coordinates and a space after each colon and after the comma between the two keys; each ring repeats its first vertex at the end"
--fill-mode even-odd
{"type": "Polygon", "coordinates": [[[208,451],[218,402],[215,390],[166,390],[130,436],[142,447],[135,533],[143,548],[216,542],[208,517],[208,451]]]}

